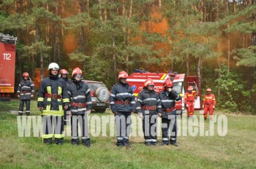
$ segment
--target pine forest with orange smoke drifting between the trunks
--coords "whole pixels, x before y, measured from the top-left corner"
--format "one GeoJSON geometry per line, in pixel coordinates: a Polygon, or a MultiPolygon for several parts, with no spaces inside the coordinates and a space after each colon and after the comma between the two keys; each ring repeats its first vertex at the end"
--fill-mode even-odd
{"type": "Polygon", "coordinates": [[[15,83],[56,62],[109,90],[119,71],[176,71],[211,87],[217,109],[256,114],[254,0],[0,0],[0,32],[17,36],[15,83]]]}

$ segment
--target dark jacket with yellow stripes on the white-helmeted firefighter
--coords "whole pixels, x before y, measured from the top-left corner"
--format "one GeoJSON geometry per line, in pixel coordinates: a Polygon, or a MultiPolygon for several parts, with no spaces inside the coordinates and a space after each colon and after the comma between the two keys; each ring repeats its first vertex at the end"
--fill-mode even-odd
{"type": "Polygon", "coordinates": [[[43,107],[42,115],[63,116],[64,105],[69,105],[69,94],[64,79],[51,76],[43,79],[37,98],[37,106],[43,107]],[[48,97],[49,94],[52,97],[48,97]]]}

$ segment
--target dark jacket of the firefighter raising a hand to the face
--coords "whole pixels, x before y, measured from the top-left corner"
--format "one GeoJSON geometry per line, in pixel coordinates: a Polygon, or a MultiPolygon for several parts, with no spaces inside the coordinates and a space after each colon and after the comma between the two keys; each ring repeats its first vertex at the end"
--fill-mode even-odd
{"type": "Polygon", "coordinates": [[[158,96],[162,103],[162,118],[167,118],[168,115],[171,115],[173,112],[167,112],[165,109],[174,108],[176,105],[175,101],[181,100],[181,97],[178,95],[178,93],[176,93],[175,90],[171,90],[170,93],[163,90],[158,93],[158,96]]]}

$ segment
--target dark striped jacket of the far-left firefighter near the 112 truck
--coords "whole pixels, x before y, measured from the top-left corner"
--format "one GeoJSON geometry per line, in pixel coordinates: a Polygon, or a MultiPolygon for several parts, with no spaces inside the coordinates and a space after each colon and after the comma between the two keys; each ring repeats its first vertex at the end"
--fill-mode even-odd
{"type": "Polygon", "coordinates": [[[18,95],[20,100],[30,100],[31,95],[34,95],[34,83],[30,80],[22,80],[18,85],[18,95]]]}

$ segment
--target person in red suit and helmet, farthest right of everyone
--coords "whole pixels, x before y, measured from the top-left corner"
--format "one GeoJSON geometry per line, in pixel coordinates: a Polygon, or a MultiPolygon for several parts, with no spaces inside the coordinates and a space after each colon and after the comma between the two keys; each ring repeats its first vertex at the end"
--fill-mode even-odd
{"type": "Polygon", "coordinates": [[[216,105],[216,100],[214,97],[214,94],[211,94],[211,89],[208,88],[207,95],[205,95],[205,98],[203,98],[203,117],[204,119],[207,119],[207,113],[209,111],[210,119],[214,118],[214,108],[216,105]]]}

